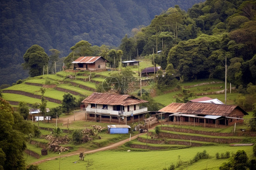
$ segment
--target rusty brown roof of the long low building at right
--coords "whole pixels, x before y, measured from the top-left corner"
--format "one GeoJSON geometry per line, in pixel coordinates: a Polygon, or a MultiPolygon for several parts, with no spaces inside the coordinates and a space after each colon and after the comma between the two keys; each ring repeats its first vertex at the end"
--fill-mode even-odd
{"type": "Polygon", "coordinates": [[[197,103],[197,102],[187,102],[184,105],[180,105],[180,107],[177,107],[177,103],[176,105],[174,103],[174,105],[170,104],[161,110],[169,113],[180,112],[180,113],[195,114],[195,115],[228,116],[235,109],[241,110],[244,115],[248,115],[248,113],[245,110],[242,110],[237,105],[218,105],[218,104],[197,103]]]}

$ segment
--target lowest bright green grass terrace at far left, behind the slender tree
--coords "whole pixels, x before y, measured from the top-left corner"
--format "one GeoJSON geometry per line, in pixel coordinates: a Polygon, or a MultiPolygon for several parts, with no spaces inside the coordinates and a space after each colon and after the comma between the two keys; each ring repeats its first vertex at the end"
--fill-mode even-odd
{"type": "MultiPolygon", "coordinates": [[[[17,102],[24,101],[24,102],[30,103],[30,104],[33,104],[35,102],[41,103],[40,99],[35,99],[32,97],[27,97],[25,95],[17,95],[17,94],[12,94],[12,93],[4,93],[3,98],[8,101],[17,101],[17,102]]],[[[50,101],[47,102],[48,108],[53,108],[53,107],[57,107],[57,106],[59,106],[59,104],[53,103],[50,101]]],[[[17,106],[15,105],[15,107],[17,107],[17,106]]]]}

